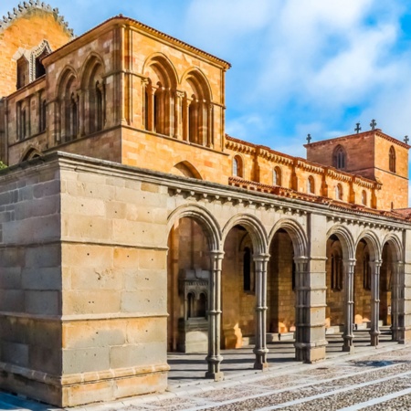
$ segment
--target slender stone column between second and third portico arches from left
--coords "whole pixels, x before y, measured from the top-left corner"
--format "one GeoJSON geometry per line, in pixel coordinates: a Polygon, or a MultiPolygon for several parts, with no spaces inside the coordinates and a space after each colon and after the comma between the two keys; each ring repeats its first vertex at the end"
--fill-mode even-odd
{"type": "Polygon", "coordinates": [[[267,264],[268,254],[254,256],[256,268],[256,370],[265,370],[269,367],[267,363],[267,264]]]}

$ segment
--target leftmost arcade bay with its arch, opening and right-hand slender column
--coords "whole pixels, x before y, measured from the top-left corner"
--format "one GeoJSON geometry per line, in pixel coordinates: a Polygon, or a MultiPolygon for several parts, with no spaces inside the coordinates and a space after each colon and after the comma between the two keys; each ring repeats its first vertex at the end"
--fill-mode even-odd
{"type": "Polygon", "coordinates": [[[221,230],[199,205],[178,207],[168,228],[168,349],[207,353],[205,377],[221,380],[221,230]]]}

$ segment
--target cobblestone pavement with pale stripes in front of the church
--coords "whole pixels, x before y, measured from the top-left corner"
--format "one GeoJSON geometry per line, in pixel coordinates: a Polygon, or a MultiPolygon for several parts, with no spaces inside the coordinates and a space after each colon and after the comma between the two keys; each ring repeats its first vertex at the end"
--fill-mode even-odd
{"type": "MultiPolygon", "coordinates": [[[[411,345],[387,345],[374,351],[368,348],[363,353],[334,357],[319,364],[294,363],[278,370],[271,368],[267,373],[233,376],[219,384],[204,380],[202,384],[175,387],[163,395],[71,410],[411,410],[411,345]]],[[[25,401],[17,406],[0,395],[0,409],[57,408],[25,401]]]]}

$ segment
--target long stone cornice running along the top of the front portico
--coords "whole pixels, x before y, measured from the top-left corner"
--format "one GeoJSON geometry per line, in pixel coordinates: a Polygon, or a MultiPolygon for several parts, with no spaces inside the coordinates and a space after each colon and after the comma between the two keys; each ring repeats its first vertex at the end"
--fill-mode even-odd
{"type": "Polygon", "coordinates": [[[27,173],[27,168],[30,169],[30,173],[37,175],[37,167],[44,165],[61,170],[85,171],[159,184],[168,191],[169,195],[183,196],[187,200],[253,206],[291,215],[315,213],[327,216],[328,219],[339,218],[355,224],[394,230],[411,229],[411,217],[401,216],[395,211],[374,210],[364,205],[343,203],[319,195],[299,193],[285,187],[258,184],[238,177],[230,177],[228,184],[217,184],[72,153],[49,153],[13,165],[0,171],[0,179],[5,179],[5,182],[18,180],[20,173],[27,173]]]}

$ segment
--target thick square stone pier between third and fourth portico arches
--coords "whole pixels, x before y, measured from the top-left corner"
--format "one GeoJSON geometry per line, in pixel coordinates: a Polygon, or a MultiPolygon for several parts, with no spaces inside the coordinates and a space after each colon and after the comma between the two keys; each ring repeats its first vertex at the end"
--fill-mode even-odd
{"type": "Polygon", "coordinates": [[[315,363],[325,358],[325,258],[294,258],[296,265],[296,360],[315,363]]]}

